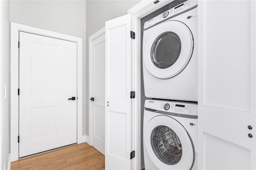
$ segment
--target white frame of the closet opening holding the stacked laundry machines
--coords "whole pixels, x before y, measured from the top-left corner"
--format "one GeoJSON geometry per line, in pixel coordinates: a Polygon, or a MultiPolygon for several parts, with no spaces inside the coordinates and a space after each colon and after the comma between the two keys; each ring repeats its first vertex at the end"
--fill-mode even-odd
{"type": "MultiPolygon", "coordinates": [[[[140,67],[140,19],[148,14],[162,8],[174,0],[142,0],[127,13],[132,14],[132,31],[135,32],[135,40],[132,41],[132,91],[136,97],[132,99],[132,150],[135,150],[135,157],[132,159],[132,169],[144,168],[141,165],[141,67],[140,67]],[[154,3],[156,2],[156,4],[154,3]]],[[[143,159],[143,158],[142,158],[143,159]]]]}

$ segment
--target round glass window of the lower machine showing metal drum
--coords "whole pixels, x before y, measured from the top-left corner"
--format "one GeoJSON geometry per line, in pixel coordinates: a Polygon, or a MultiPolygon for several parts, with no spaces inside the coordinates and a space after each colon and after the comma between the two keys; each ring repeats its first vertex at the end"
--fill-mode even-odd
{"type": "Polygon", "coordinates": [[[182,144],[169,127],[158,126],[151,134],[151,145],[159,160],[168,165],[177,164],[182,157],[182,144]]]}

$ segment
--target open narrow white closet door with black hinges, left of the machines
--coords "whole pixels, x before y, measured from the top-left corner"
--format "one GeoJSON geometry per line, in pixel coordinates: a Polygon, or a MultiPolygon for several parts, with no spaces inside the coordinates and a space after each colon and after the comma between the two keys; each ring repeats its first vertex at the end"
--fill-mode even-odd
{"type": "Polygon", "coordinates": [[[106,170],[132,165],[131,22],[131,14],[106,22],[106,170]]]}

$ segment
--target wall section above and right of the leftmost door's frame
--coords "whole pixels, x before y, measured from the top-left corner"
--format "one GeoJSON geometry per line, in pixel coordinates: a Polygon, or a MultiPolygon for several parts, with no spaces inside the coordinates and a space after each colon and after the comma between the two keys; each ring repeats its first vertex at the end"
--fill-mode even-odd
{"type": "MultiPolygon", "coordinates": [[[[42,28],[62,34],[83,38],[83,73],[85,73],[86,40],[85,0],[11,0],[10,22],[42,28]]],[[[85,103],[85,75],[83,74],[83,106],[85,103]]],[[[85,110],[85,109],[84,109],[85,110]]],[[[85,134],[85,111],[83,113],[83,134],[85,134]]]]}

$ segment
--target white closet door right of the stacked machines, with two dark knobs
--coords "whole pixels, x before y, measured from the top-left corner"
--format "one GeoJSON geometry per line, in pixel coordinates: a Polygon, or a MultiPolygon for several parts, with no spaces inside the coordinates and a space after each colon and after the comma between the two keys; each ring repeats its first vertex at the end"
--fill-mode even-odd
{"type": "Polygon", "coordinates": [[[198,1],[198,169],[256,169],[255,33],[254,0],[198,1]]]}

